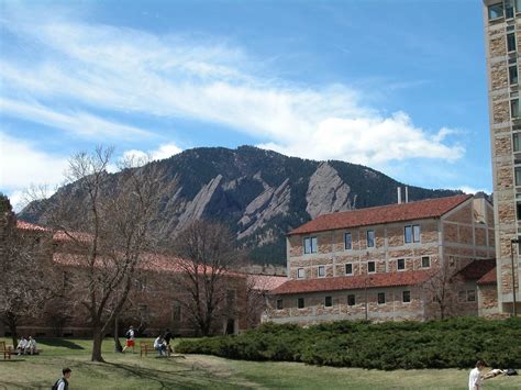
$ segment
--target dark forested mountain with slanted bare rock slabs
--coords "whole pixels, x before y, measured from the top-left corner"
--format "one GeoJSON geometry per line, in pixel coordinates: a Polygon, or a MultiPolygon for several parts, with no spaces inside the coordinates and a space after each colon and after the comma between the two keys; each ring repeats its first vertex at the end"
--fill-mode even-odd
{"type": "MultiPolygon", "coordinates": [[[[320,214],[396,203],[397,187],[406,186],[362,165],[288,157],[253,146],[193,148],[134,169],[177,183],[175,191],[160,194],[164,202],[156,219],[162,223],[154,232],[159,238],[171,237],[197,219],[218,220],[258,264],[285,264],[290,230],[320,214]]],[[[120,174],[109,175],[118,182],[120,174]]],[[[32,202],[19,219],[45,225],[58,198],[81,201],[70,197],[75,186],[32,202]]],[[[461,192],[409,186],[408,193],[413,201],[461,192]]]]}

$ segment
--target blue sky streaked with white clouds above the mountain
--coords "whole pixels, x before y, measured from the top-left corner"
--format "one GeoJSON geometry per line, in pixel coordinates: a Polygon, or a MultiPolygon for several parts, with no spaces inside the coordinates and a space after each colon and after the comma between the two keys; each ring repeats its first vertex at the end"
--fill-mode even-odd
{"type": "Polygon", "coordinates": [[[0,192],[97,145],[255,145],[491,191],[479,0],[0,0],[0,192]]]}

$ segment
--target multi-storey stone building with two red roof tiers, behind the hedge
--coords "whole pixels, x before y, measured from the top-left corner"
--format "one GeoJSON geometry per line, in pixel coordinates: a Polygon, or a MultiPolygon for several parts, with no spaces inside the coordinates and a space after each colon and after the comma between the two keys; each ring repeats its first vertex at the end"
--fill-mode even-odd
{"type": "MultiPolygon", "coordinates": [[[[428,282],[490,264],[494,244],[492,205],[483,197],[321,215],[288,234],[288,281],[273,291],[267,316],[300,324],[435,317],[442,286],[428,282]]],[[[476,281],[464,278],[455,291],[461,313],[477,314],[476,281]]]]}

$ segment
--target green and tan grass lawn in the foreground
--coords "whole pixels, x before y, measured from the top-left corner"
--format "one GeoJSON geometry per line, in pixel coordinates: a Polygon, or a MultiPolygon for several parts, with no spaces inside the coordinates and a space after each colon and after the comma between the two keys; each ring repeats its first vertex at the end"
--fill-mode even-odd
{"type": "MultiPolygon", "coordinates": [[[[457,369],[377,371],[202,355],[140,358],[138,348],[113,353],[110,339],[103,343],[107,364],[98,364],[90,361],[90,345],[86,339],[40,339],[42,355],[0,360],[0,389],[49,389],[63,367],[73,369],[70,389],[466,389],[468,378],[468,370],[457,369]]],[[[521,377],[494,378],[486,389],[521,389],[521,377]]]]}

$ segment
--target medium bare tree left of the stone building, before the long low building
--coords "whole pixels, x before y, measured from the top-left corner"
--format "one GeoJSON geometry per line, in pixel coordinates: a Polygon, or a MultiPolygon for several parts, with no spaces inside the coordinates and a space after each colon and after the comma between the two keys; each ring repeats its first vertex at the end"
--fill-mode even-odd
{"type": "Polygon", "coordinates": [[[208,336],[215,321],[229,314],[233,297],[229,294],[231,270],[241,255],[226,226],[207,221],[196,221],[184,230],[174,243],[180,257],[180,291],[177,298],[190,322],[200,334],[208,336]],[[229,304],[226,304],[226,299],[229,304]]]}

